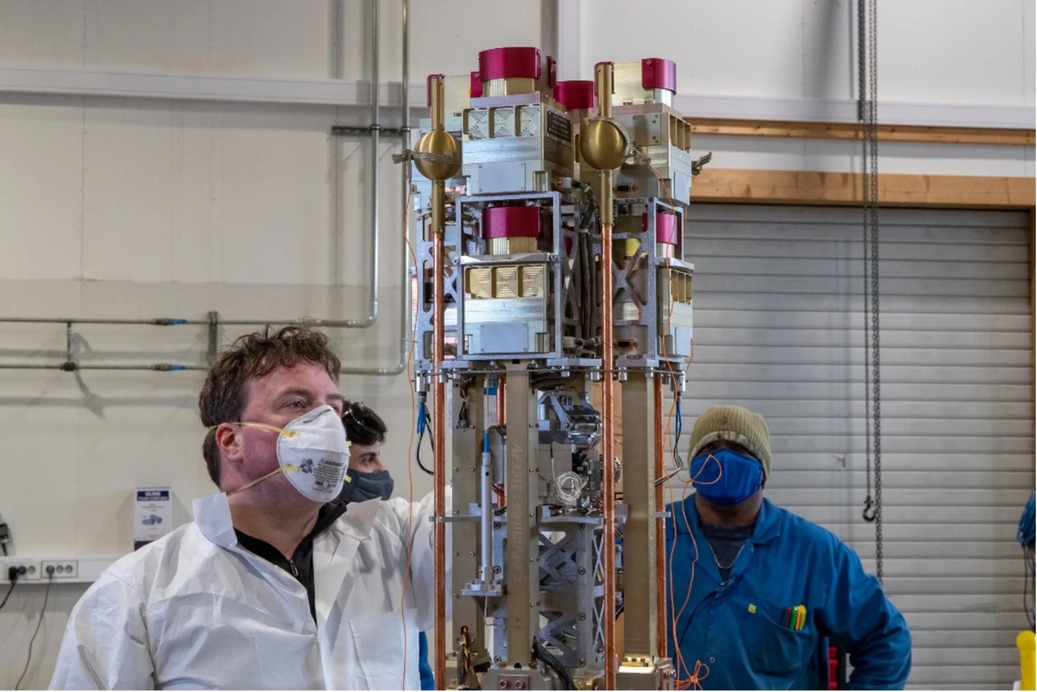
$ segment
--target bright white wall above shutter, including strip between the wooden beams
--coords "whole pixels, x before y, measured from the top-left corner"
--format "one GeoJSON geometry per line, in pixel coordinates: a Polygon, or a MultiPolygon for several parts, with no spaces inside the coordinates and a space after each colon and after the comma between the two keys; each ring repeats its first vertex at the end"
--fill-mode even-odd
{"type": "MultiPolygon", "coordinates": [[[[685,115],[854,117],[852,0],[573,4],[562,35],[579,50],[559,67],[565,79],[590,79],[599,60],[665,57],[677,63],[674,103],[685,115]]],[[[880,121],[1034,127],[1033,0],[879,0],[877,17],[880,121]]],[[[693,146],[713,151],[719,168],[861,169],[857,142],[698,136],[693,146]]],[[[884,142],[879,151],[891,173],[1034,175],[1031,147],[884,142]]]]}

